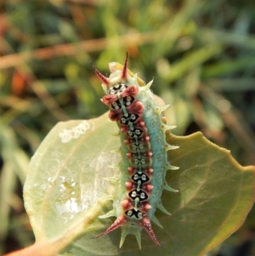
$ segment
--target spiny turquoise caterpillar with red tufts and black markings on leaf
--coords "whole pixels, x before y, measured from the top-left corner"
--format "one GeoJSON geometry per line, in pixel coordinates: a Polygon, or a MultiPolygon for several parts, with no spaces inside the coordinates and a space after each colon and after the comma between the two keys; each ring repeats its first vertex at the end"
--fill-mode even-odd
{"type": "MultiPolygon", "coordinates": [[[[166,142],[165,133],[175,126],[166,125],[162,116],[169,105],[159,107],[150,86],[137,74],[128,70],[128,53],[124,66],[109,63],[110,77],[105,77],[92,64],[96,75],[102,82],[106,93],[102,102],[110,108],[109,118],[120,128],[120,176],[116,181],[113,210],[99,218],[116,216],[115,222],[102,234],[103,236],[122,228],[120,247],[128,234],[134,234],[141,249],[141,231],[145,229],[154,243],[160,246],[152,230],[150,220],[159,225],[154,213],[156,207],[170,215],[161,204],[163,190],[177,192],[166,184],[166,170],[175,170],[168,162],[167,151],[176,149],[166,142]]],[[[96,236],[96,237],[99,237],[96,236]]]]}

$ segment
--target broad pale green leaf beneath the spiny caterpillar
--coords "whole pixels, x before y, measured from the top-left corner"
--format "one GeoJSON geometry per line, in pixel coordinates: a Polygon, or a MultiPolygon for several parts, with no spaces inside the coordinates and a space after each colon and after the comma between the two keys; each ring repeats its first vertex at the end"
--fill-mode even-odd
{"type": "Polygon", "coordinates": [[[242,225],[254,202],[254,168],[241,167],[201,133],[168,133],[168,142],[180,146],[168,151],[171,164],[180,169],[170,170],[166,181],[179,193],[163,192],[171,216],[156,212],[164,227],[152,224],[161,247],[145,231],[142,251],[135,236],[119,249],[120,229],[91,239],[115,220],[98,218],[112,209],[112,201],[103,197],[114,193],[114,183],[103,178],[117,175],[119,170],[108,165],[120,161],[119,153],[110,153],[120,145],[110,135],[117,125],[106,120],[105,114],[58,123],[34,154],[24,200],[38,245],[61,250],[59,255],[193,256],[208,252],[242,225]]]}

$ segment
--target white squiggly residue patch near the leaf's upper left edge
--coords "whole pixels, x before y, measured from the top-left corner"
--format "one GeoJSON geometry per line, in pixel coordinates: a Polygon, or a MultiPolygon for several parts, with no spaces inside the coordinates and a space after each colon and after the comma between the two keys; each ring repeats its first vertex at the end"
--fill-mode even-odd
{"type": "Polygon", "coordinates": [[[61,138],[62,143],[68,143],[71,139],[78,139],[80,135],[84,134],[89,130],[91,126],[89,122],[84,120],[82,123],[77,126],[71,128],[71,130],[64,129],[61,133],[59,133],[59,137],[61,138]]]}

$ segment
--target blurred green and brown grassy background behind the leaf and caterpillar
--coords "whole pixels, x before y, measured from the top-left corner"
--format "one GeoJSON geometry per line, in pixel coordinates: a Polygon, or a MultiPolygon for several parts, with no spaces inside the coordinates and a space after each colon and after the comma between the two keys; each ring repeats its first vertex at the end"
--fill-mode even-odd
{"type": "MultiPolygon", "coordinates": [[[[22,186],[59,121],[106,112],[92,61],[123,63],[171,107],[177,135],[198,130],[255,164],[255,1],[11,0],[0,3],[0,253],[34,241],[22,186]]],[[[254,209],[210,255],[255,255],[254,209]],[[252,242],[253,241],[253,242],[252,242]]]]}

